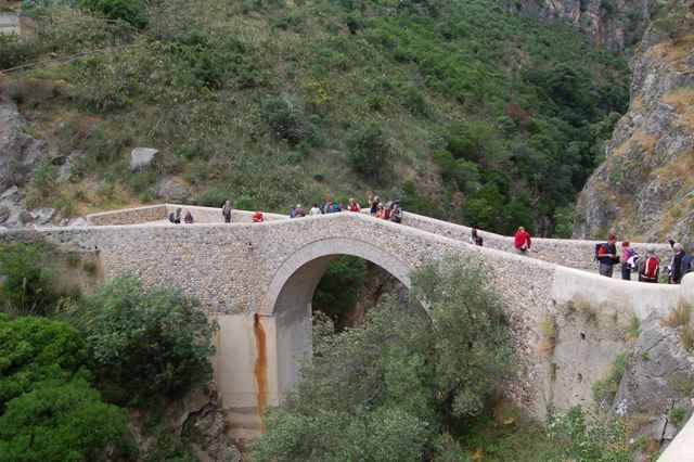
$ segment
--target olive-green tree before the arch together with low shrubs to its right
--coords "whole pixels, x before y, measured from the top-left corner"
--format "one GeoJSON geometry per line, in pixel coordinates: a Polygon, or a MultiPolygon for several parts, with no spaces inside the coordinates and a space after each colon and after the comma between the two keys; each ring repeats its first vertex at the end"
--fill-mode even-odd
{"type": "Polygon", "coordinates": [[[313,360],[283,407],[267,411],[254,460],[631,460],[619,422],[589,424],[574,408],[548,432],[504,406],[513,358],[488,270],[445,267],[412,275],[410,295],[427,313],[389,299],[338,334],[319,316],[313,360]]]}

